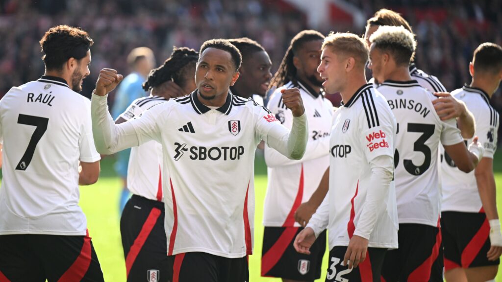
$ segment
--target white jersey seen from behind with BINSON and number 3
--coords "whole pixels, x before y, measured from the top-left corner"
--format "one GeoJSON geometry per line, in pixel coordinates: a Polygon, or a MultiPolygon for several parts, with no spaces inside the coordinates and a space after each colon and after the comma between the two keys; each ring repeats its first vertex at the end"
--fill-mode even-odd
{"type": "Polygon", "coordinates": [[[436,97],[416,80],[380,85],[398,122],[394,156],[399,223],[436,227],[440,212],[439,144],[463,142],[455,119],[442,121],[432,101],[436,97]]]}

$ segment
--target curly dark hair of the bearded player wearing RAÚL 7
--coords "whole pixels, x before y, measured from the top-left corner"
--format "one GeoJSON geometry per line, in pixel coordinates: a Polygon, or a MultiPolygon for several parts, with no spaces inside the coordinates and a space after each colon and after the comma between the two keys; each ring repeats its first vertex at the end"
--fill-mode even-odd
{"type": "Polygon", "coordinates": [[[70,58],[80,60],[94,41],[80,28],[57,26],[48,30],[40,40],[42,57],[47,70],[61,70],[70,58]]]}

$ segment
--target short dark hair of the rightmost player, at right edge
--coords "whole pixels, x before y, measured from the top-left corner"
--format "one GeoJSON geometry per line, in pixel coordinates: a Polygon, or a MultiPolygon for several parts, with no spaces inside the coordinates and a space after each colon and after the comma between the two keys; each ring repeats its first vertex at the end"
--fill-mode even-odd
{"type": "Polygon", "coordinates": [[[496,74],[502,70],[502,47],[485,42],[474,50],[474,75],[476,72],[496,74]]]}

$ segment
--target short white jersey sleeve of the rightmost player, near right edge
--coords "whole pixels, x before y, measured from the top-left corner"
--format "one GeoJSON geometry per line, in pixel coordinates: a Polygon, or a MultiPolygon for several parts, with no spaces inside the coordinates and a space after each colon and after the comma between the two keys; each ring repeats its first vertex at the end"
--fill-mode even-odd
{"type": "Polygon", "coordinates": [[[497,146],[498,113],[492,109],[483,108],[475,116],[478,142],[484,148],[484,158],[493,159],[497,146]]]}

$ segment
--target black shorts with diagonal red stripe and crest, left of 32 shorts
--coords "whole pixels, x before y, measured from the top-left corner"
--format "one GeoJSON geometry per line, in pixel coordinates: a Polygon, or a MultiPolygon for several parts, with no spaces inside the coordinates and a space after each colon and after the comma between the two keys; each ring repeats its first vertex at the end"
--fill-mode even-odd
{"type": "Polygon", "coordinates": [[[301,227],[265,227],[263,233],[262,276],[313,281],[321,276],[326,250],[326,230],[310,247],[310,255],[295,250],[293,242],[301,227]]]}

